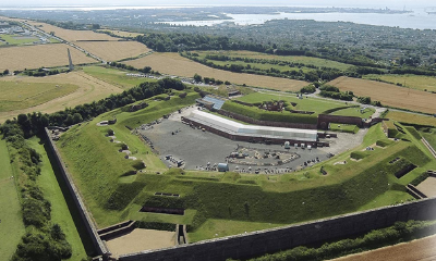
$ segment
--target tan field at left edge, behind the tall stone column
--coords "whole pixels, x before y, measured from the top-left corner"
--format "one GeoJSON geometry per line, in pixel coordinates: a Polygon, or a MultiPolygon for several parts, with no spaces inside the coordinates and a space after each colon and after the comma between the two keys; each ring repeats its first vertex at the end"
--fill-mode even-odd
{"type": "MultiPolygon", "coordinates": [[[[69,64],[68,48],[63,44],[0,48],[0,71],[65,66],[69,64]]],[[[70,52],[74,64],[96,62],[74,48],[70,48],[70,52]]]]}

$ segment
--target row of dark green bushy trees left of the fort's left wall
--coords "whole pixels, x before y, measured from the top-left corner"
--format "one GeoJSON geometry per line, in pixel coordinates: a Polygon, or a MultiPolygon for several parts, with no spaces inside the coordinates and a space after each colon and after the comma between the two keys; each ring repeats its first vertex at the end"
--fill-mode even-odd
{"type": "Polygon", "coordinates": [[[5,123],[0,130],[10,148],[11,163],[15,164],[15,178],[20,187],[23,223],[26,234],[17,245],[12,261],[46,261],[69,259],[71,245],[59,224],[51,221],[51,204],[45,198],[37,179],[41,173],[41,156],[29,148],[17,123],[5,123]]]}

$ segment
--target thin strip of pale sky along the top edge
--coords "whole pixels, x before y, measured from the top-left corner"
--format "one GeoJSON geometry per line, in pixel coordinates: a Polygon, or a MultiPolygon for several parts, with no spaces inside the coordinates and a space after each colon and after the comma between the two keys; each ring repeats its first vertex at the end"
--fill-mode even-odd
{"type": "Polygon", "coordinates": [[[47,5],[315,5],[359,8],[426,8],[436,7],[435,0],[1,0],[0,7],[47,7],[47,5]]]}

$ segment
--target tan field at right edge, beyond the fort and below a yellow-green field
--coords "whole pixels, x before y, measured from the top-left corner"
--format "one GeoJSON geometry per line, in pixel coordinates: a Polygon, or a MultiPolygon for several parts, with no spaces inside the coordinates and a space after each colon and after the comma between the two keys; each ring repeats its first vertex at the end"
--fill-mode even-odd
{"type": "Polygon", "coordinates": [[[436,112],[436,95],[422,90],[401,88],[396,85],[368,79],[339,77],[328,83],[341,91],[353,91],[355,96],[367,96],[383,105],[402,108],[412,111],[436,112]]]}

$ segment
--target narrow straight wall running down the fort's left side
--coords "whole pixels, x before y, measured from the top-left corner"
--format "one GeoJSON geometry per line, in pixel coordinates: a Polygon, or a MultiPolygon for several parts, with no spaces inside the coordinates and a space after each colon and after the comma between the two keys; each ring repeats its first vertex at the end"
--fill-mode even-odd
{"type": "Polygon", "coordinates": [[[63,163],[62,158],[58,151],[58,148],[56,147],[55,142],[51,140],[50,130],[48,128],[45,128],[45,130],[46,130],[46,135],[48,138],[48,144],[55,154],[55,158],[59,165],[59,170],[61,172],[62,178],[64,179],[66,187],[73,198],[74,204],[80,213],[80,216],[81,216],[83,223],[85,224],[86,232],[88,233],[89,238],[93,240],[96,253],[104,256],[106,258],[108,256],[109,250],[108,250],[106,244],[98,236],[97,226],[94,223],[92,214],[86,210],[86,207],[85,207],[85,204],[82,200],[82,197],[78,192],[78,189],[74,185],[74,182],[73,182],[70,173],[68,172],[66,166],[63,163]]]}

